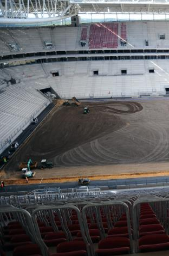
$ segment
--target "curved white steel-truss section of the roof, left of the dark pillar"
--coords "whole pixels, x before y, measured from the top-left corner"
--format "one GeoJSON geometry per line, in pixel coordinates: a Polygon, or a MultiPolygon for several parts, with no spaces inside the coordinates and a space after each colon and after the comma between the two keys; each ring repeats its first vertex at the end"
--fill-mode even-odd
{"type": "Polygon", "coordinates": [[[0,0],[0,23],[38,23],[77,15],[69,0],[0,0]]]}

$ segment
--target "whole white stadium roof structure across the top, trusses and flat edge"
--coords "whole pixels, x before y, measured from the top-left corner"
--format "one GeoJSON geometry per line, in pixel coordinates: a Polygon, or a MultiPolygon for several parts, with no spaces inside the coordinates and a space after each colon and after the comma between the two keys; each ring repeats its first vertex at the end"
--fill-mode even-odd
{"type": "Polygon", "coordinates": [[[169,0],[0,0],[0,23],[52,22],[78,13],[169,13],[169,0]]]}

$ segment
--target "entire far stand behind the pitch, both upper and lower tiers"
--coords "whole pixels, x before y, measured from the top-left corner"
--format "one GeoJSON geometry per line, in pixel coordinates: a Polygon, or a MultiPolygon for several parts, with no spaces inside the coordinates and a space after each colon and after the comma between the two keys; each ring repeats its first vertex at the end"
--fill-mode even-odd
{"type": "Polygon", "coordinates": [[[133,21],[80,27],[1,28],[0,52],[4,60],[0,61],[6,67],[0,70],[1,88],[14,78],[17,82],[24,81],[25,86],[35,84],[37,89],[52,87],[63,98],[74,95],[79,98],[165,95],[169,74],[167,24],[167,21],[133,21]],[[99,41],[92,42],[95,33],[99,41]],[[165,39],[160,39],[160,35],[165,35],[165,39]],[[81,39],[87,41],[82,54],[78,52],[82,50],[81,39]],[[122,39],[127,43],[124,44],[122,39]],[[103,48],[105,45],[105,52],[90,51],[90,42],[101,44],[103,48]],[[17,44],[19,51],[11,50],[9,44],[17,44]],[[110,50],[106,50],[108,48],[110,50]],[[51,49],[54,50],[50,52],[52,59],[47,55],[51,49]],[[129,52],[123,52],[124,49],[129,52]],[[21,53],[25,53],[24,56],[21,53]],[[16,54],[17,58],[9,60],[9,56],[5,57],[8,54],[16,54]],[[77,62],[79,59],[86,61],[77,62]],[[52,77],[53,71],[59,72],[59,76],[52,77]]]}

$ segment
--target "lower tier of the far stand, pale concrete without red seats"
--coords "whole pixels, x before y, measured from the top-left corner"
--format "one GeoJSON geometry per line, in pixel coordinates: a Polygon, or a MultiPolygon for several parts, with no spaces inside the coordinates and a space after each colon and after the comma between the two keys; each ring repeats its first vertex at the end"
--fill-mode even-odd
{"type": "MultiPolygon", "coordinates": [[[[100,60],[90,62],[53,62],[5,68],[5,74],[18,78],[36,89],[52,87],[60,97],[70,99],[89,97],[158,96],[165,95],[168,88],[167,60],[100,60]],[[53,77],[52,71],[59,72],[53,77]],[[93,70],[98,70],[97,76],[93,70]],[[121,75],[121,70],[127,74],[121,75]],[[150,74],[150,70],[153,73],[150,74]],[[125,87],[123,82],[125,81],[125,87]]],[[[27,86],[27,85],[25,85],[27,86]]]]}

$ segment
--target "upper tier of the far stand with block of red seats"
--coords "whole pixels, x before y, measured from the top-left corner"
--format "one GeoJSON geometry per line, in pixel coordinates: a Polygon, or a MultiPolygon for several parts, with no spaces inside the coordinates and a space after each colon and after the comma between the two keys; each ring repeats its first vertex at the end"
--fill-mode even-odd
{"type": "MultiPolygon", "coordinates": [[[[57,51],[82,50],[79,41],[89,42],[85,48],[124,48],[120,38],[127,39],[125,48],[167,48],[168,21],[132,21],[122,23],[96,23],[80,27],[47,27],[0,29],[0,52],[3,55],[50,51],[44,41],[51,41],[57,51]],[[51,30],[52,29],[52,30],[51,30]],[[89,32],[89,36],[87,36],[89,32]],[[164,35],[163,38],[160,35],[164,35]],[[148,46],[145,45],[148,41],[148,46]],[[18,44],[18,50],[9,44],[18,44]],[[96,44],[96,46],[94,46],[96,44]]],[[[125,39],[125,40],[126,40],[125,39]]]]}

